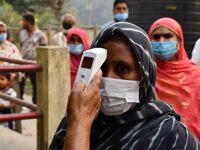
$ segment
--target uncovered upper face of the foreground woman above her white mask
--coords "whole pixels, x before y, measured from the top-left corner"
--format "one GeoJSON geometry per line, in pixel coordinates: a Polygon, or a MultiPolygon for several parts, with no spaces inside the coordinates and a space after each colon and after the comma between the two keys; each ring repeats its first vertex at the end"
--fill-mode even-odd
{"type": "Polygon", "coordinates": [[[139,64],[125,42],[108,41],[101,47],[108,50],[107,60],[102,67],[104,77],[140,80],[139,64]]]}

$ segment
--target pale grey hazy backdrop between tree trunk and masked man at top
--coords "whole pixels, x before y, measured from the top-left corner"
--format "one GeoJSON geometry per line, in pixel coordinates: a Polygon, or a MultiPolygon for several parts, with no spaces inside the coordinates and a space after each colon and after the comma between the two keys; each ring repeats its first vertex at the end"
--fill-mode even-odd
{"type": "MultiPolygon", "coordinates": [[[[84,25],[102,25],[113,19],[114,0],[71,0],[78,20],[84,25]],[[91,3],[89,3],[91,2],[91,3]]],[[[67,8],[66,6],[64,8],[67,8]]]]}

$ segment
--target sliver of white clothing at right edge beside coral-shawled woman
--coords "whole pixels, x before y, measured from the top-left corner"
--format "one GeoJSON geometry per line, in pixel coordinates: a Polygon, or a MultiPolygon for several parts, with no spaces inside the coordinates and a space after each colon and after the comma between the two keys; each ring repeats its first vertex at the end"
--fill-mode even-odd
{"type": "Polygon", "coordinates": [[[195,46],[192,50],[191,60],[200,66],[200,39],[198,39],[195,43],[195,46]]]}

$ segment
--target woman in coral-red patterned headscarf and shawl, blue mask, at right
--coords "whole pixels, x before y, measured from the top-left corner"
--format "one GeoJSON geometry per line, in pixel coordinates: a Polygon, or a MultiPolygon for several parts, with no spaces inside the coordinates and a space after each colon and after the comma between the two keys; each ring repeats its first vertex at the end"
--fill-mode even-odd
{"type": "Polygon", "coordinates": [[[160,18],[149,37],[157,64],[157,98],[172,105],[200,140],[200,68],[188,59],[182,28],[172,18],[160,18]]]}

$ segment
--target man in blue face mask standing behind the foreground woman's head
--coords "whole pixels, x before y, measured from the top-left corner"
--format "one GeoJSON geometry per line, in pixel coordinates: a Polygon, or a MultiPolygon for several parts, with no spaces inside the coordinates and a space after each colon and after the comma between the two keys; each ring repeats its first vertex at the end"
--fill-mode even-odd
{"type": "Polygon", "coordinates": [[[129,17],[129,8],[127,0],[115,0],[113,3],[114,20],[107,22],[102,29],[115,22],[127,21],[129,17]]]}

